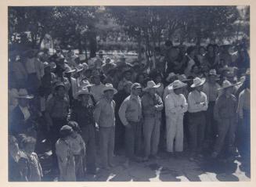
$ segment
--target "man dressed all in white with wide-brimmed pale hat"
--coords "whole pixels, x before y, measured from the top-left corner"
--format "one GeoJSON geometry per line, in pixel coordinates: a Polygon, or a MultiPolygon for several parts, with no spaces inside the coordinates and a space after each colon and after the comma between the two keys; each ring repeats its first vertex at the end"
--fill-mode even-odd
{"type": "Polygon", "coordinates": [[[188,103],[182,94],[186,84],[182,81],[174,81],[169,93],[165,98],[165,115],[166,115],[166,140],[168,153],[174,153],[173,143],[175,140],[175,152],[183,151],[183,117],[188,110],[188,103]]]}

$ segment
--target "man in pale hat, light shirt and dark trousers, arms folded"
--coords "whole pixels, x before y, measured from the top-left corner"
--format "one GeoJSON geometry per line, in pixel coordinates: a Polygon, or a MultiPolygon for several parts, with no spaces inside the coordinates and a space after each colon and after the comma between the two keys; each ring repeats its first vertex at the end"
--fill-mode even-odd
{"type": "Polygon", "coordinates": [[[204,142],[205,131],[205,113],[207,110],[208,102],[207,95],[202,92],[205,83],[205,78],[196,77],[193,79],[192,92],[188,96],[188,111],[189,111],[189,141],[191,147],[190,160],[194,159],[196,154],[202,156],[202,146],[204,142]]]}

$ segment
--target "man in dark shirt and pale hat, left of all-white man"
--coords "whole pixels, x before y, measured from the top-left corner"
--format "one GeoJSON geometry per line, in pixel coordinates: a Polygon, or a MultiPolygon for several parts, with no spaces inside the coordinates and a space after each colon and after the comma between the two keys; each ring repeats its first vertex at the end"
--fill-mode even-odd
{"type": "Polygon", "coordinates": [[[143,137],[145,142],[145,160],[149,156],[157,157],[158,144],[160,138],[161,110],[163,102],[156,93],[155,88],[159,88],[154,81],[148,81],[146,88],[143,89],[145,94],[142,96],[142,114],[143,114],[143,137]]]}

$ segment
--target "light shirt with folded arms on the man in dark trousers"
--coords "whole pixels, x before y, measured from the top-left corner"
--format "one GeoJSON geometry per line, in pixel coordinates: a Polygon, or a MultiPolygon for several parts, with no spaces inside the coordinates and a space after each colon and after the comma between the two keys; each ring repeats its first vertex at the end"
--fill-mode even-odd
{"type": "Polygon", "coordinates": [[[198,92],[197,90],[194,90],[189,93],[188,103],[189,113],[206,111],[208,108],[207,95],[204,92],[198,92]]]}

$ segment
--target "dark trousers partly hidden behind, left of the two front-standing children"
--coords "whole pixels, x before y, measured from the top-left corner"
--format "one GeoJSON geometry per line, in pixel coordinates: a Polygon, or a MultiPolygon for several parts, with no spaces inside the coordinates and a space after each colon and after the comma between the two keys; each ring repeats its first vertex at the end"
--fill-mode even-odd
{"type": "Polygon", "coordinates": [[[52,169],[58,168],[55,144],[59,139],[59,130],[65,124],[67,124],[67,120],[65,118],[52,118],[52,127],[50,127],[49,131],[49,138],[52,145],[52,169]]]}

